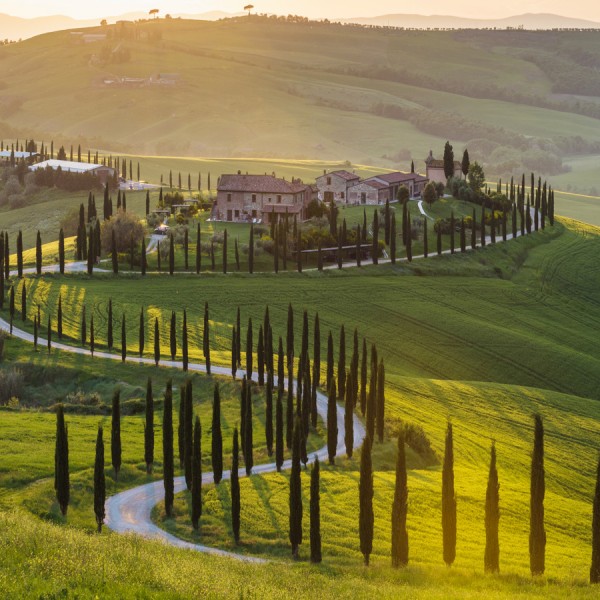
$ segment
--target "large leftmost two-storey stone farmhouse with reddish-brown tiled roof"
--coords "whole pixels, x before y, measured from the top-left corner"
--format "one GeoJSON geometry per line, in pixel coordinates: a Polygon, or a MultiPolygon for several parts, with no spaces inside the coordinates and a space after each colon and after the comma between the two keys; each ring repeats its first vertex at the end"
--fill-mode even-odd
{"type": "Polygon", "coordinates": [[[221,175],[214,216],[217,220],[272,222],[289,214],[306,219],[312,188],[299,179],[286,181],[273,175],[221,175]]]}

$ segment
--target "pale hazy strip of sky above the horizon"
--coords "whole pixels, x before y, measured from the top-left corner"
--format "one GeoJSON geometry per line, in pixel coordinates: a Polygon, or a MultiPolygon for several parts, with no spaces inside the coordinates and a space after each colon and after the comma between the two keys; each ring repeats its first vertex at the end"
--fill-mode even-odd
{"type": "MultiPolygon", "coordinates": [[[[210,10],[238,12],[245,2],[237,0],[102,0],[102,2],[73,2],[72,0],[0,0],[0,12],[33,17],[63,14],[77,18],[96,18],[120,15],[131,11],[148,11],[159,8],[161,13],[202,13],[210,10]]],[[[495,18],[525,12],[551,12],[555,14],[600,20],[598,0],[422,0],[418,4],[409,0],[256,0],[258,12],[301,14],[309,17],[366,17],[386,13],[452,14],[464,17],[495,18]]]]}

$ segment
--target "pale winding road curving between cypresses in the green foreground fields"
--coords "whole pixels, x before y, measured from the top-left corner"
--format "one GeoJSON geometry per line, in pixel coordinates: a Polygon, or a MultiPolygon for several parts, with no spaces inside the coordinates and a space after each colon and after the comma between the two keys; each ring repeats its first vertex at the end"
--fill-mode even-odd
{"type": "MultiPolygon", "coordinates": [[[[0,318],[0,330],[6,332],[10,331],[10,324],[4,319],[0,318]]],[[[26,342],[33,343],[33,335],[13,327],[12,336],[26,342]]],[[[38,344],[40,346],[47,345],[47,340],[38,337],[38,344]]],[[[69,346],[60,342],[52,342],[52,347],[63,352],[71,352],[73,354],[87,355],[90,356],[91,352],[87,348],[77,348],[75,346],[69,346]]],[[[121,361],[120,354],[113,354],[109,352],[94,352],[94,357],[98,359],[108,359],[121,361]]],[[[154,365],[154,360],[145,357],[131,356],[127,357],[127,362],[154,365]]],[[[161,366],[183,368],[180,361],[161,361],[161,366]]],[[[188,365],[190,371],[206,372],[206,366],[201,363],[190,363],[188,365]]],[[[231,369],[225,367],[218,367],[211,365],[211,373],[217,375],[225,375],[231,377],[231,369]]],[[[244,372],[239,370],[240,376],[243,376],[244,372]]],[[[252,379],[256,380],[257,375],[254,374],[252,379]]],[[[277,385],[277,377],[275,377],[275,385],[277,385]]],[[[294,388],[296,382],[294,381],[294,388]]],[[[327,397],[321,392],[317,391],[317,412],[324,423],[327,422],[327,397]]],[[[338,421],[338,440],[337,440],[337,454],[342,455],[346,451],[344,442],[344,409],[338,404],[337,406],[337,421],[338,421]]],[[[360,447],[365,438],[365,428],[360,419],[354,415],[354,448],[360,447]]],[[[327,460],[327,446],[324,446],[313,454],[319,457],[319,460],[327,460]]],[[[309,462],[312,462],[309,460],[309,462]]],[[[291,459],[286,460],[283,463],[282,469],[291,468],[291,459]]],[[[275,463],[268,463],[257,465],[253,468],[253,474],[264,474],[275,472],[275,463]]],[[[246,470],[240,469],[240,477],[246,476],[246,470]]],[[[227,480],[231,477],[231,471],[223,472],[223,479],[227,480]]],[[[212,472],[202,474],[202,483],[207,484],[213,481],[212,472]]],[[[185,478],[183,476],[175,478],[175,493],[182,492],[185,490],[185,478]]],[[[252,556],[244,556],[236,554],[234,552],[227,552],[225,550],[219,550],[217,548],[211,548],[209,546],[203,546],[201,544],[192,544],[186,542],[170,533],[164,531],[152,522],[152,509],[165,497],[165,489],[163,481],[158,480],[145,485],[126,490],[114,496],[111,496],[106,501],[106,525],[113,531],[119,533],[135,533],[145,538],[159,539],[173,546],[180,548],[187,548],[191,550],[197,550],[199,552],[207,552],[210,554],[216,554],[219,556],[226,556],[236,558],[238,560],[246,562],[266,562],[265,559],[256,558],[252,556]]]]}

